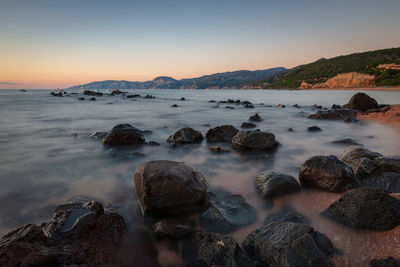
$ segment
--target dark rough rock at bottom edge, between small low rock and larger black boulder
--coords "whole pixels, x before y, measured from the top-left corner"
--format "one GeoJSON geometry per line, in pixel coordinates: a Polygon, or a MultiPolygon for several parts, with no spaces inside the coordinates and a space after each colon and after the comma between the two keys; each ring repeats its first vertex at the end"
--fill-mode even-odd
{"type": "Polygon", "coordinates": [[[235,239],[227,235],[197,231],[183,243],[185,266],[257,266],[248,259],[235,239]]]}

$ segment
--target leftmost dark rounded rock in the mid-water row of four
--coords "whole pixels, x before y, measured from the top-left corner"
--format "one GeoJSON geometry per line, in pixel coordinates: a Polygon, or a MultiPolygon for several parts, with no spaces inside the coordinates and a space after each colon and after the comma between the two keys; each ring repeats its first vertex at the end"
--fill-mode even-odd
{"type": "Polygon", "coordinates": [[[142,131],[130,124],[118,124],[114,126],[104,138],[105,145],[139,145],[144,144],[142,131]]]}

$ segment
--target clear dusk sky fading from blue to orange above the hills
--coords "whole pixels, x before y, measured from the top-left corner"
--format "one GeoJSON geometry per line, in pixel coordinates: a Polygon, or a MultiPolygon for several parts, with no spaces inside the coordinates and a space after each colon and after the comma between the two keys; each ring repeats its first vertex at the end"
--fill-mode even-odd
{"type": "Polygon", "coordinates": [[[0,89],[292,68],[400,47],[399,0],[0,0],[0,89]]]}

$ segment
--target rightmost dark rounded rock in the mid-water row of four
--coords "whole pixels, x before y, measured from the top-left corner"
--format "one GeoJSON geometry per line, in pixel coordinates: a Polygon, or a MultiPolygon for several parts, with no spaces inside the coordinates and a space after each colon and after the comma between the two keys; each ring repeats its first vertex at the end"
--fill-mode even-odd
{"type": "Polygon", "coordinates": [[[272,150],[278,145],[275,135],[269,132],[239,131],[232,138],[232,146],[238,149],[272,150]]]}

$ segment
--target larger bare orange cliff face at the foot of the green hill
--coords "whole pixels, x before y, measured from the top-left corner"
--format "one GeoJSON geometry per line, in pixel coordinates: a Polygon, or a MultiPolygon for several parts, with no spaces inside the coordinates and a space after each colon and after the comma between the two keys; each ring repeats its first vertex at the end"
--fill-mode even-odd
{"type": "Polygon", "coordinates": [[[375,76],[357,72],[341,73],[324,83],[309,84],[303,81],[300,89],[310,88],[357,88],[375,86],[375,76]]]}

